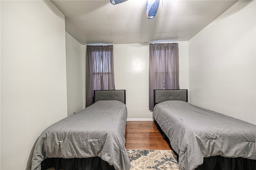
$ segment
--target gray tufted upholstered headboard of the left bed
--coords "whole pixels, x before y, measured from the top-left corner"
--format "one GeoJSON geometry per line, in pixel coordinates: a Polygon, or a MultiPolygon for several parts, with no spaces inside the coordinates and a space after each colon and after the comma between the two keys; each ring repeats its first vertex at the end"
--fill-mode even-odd
{"type": "Polygon", "coordinates": [[[125,104],[125,90],[94,90],[94,101],[117,100],[125,104]]]}

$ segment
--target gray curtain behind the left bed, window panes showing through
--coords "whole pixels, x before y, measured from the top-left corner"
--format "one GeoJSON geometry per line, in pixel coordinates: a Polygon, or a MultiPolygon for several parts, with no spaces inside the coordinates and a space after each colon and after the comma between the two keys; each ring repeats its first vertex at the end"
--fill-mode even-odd
{"type": "Polygon", "coordinates": [[[92,105],[94,90],[114,90],[113,45],[87,45],[86,107],[92,105]]]}

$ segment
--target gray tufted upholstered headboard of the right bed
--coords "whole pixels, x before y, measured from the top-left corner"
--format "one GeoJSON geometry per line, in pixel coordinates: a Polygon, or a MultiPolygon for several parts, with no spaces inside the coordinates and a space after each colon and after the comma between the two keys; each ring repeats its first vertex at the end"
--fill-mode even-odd
{"type": "Polygon", "coordinates": [[[188,102],[188,90],[154,90],[154,105],[169,100],[181,100],[188,102]]]}

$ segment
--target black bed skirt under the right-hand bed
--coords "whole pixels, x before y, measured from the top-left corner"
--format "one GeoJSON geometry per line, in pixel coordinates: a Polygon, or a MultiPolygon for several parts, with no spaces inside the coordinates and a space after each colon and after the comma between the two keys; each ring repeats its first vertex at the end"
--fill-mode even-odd
{"type": "MultiPolygon", "coordinates": [[[[162,131],[158,123],[154,120],[157,129],[161,132],[164,140],[168,143],[169,147],[172,148],[170,140],[166,134],[162,131]]],[[[173,150],[177,156],[179,155],[173,150]]],[[[256,160],[246,158],[227,158],[223,156],[210,156],[204,158],[204,163],[199,165],[195,170],[256,170],[256,160]]]]}

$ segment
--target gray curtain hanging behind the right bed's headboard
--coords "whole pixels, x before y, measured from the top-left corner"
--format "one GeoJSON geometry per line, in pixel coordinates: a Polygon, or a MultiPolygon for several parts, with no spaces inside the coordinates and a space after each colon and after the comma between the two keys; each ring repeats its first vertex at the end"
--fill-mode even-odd
{"type": "Polygon", "coordinates": [[[178,43],[149,44],[149,109],[154,109],[154,89],[179,89],[178,43]]]}

